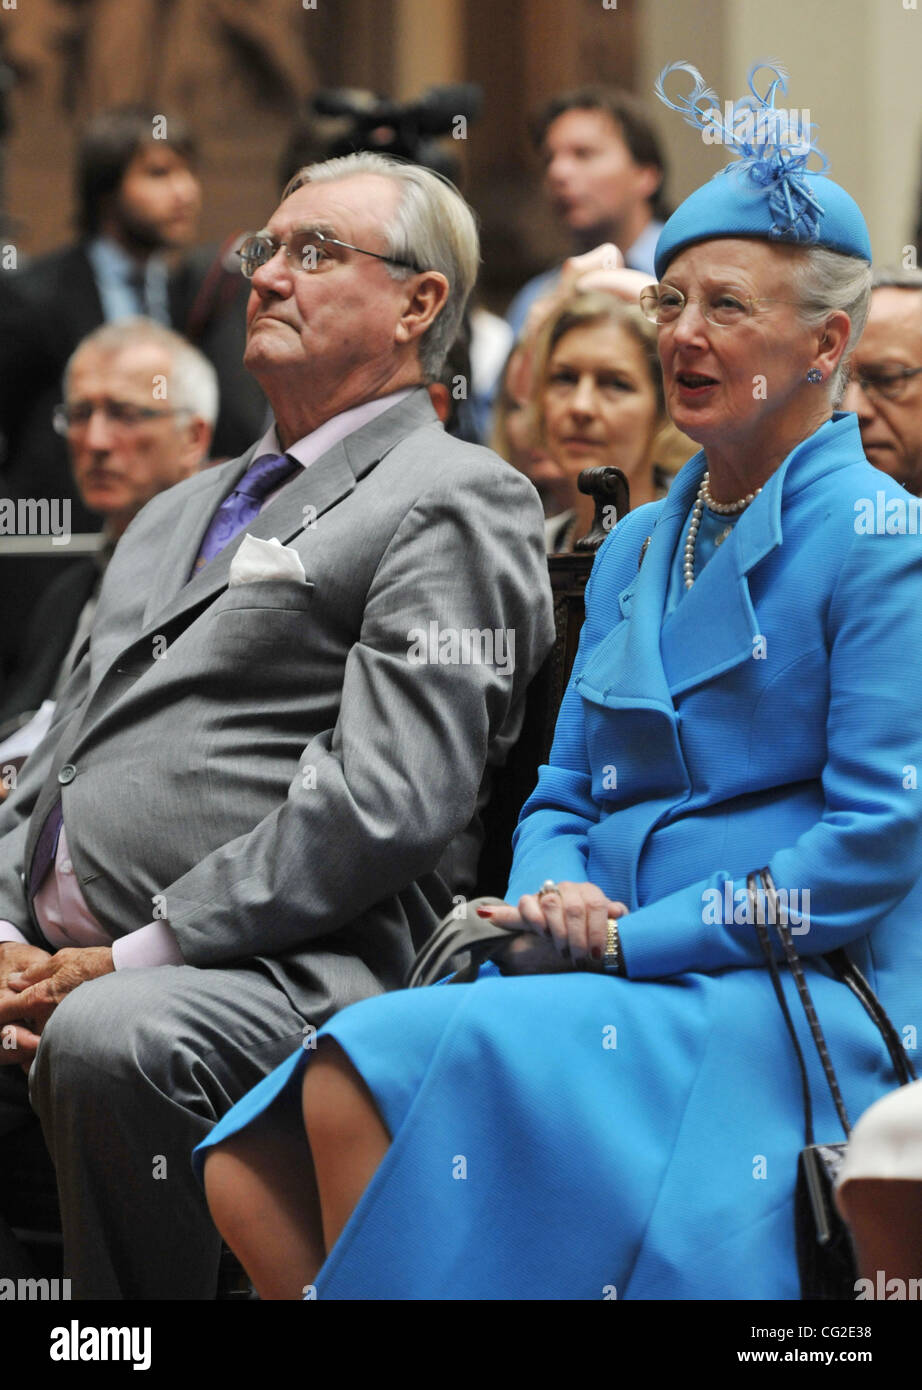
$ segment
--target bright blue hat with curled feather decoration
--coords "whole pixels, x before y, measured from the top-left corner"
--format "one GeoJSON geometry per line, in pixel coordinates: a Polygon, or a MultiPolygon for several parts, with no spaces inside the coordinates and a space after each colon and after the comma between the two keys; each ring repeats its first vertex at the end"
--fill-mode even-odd
{"type": "Polygon", "coordinates": [[[658,278],[670,260],[694,242],[713,236],[755,236],[763,240],[825,246],[846,256],[871,260],[868,227],[855,200],[826,178],[826,156],[814,143],[815,126],[793,118],[775,101],[787,92],[787,72],[777,63],[757,63],[750,71],[750,95],[723,107],[690,63],[670,63],[659,74],[655,92],[665,106],[701,131],[709,145],[725,145],[736,160],[681,203],[656,243],[658,278]],[[757,74],[772,79],[765,96],[757,74]],[[693,90],[666,96],[672,72],[687,72],[693,90]],[[818,158],[820,167],[809,170],[818,158]]]}

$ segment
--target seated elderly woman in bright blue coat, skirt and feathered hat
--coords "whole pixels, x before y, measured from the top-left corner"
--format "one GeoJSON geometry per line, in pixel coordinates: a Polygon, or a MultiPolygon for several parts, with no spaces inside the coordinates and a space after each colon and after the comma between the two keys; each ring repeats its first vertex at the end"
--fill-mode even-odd
{"type": "Polygon", "coordinates": [[[598,555],[508,905],[481,909],[527,935],[502,973],[345,1009],[197,1152],[263,1297],[797,1298],[804,1112],[747,898],[763,865],[854,1115],[896,1077],[823,954],[922,1031],[918,503],[834,409],[868,232],[802,147],[738,153],[644,293],[701,452],[598,555]]]}

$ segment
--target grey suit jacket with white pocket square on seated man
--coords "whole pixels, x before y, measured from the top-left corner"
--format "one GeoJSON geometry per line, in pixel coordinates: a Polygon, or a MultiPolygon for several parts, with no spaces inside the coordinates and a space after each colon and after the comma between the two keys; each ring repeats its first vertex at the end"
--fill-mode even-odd
{"type": "Polygon", "coordinates": [[[252,453],[154,498],[120,542],[8,803],[0,916],[42,944],[22,874],[61,795],[82,891],[114,935],[165,917],[186,963],[260,958],[296,1006],[335,974],[325,1012],[398,986],[451,905],[437,865],[552,642],[544,525],[531,485],[445,435],[420,389],[249,527],[293,546],[306,584],[228,588],[242,537],[188,581],[252,453]],[[512,634],[513,671],[463,639],[451,660],[435,632],[462,630],[512,634]]]}

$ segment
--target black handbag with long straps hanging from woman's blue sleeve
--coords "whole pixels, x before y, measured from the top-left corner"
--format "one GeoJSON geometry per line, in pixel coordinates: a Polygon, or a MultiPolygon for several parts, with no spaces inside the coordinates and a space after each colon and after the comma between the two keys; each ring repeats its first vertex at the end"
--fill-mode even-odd
{"type": "MultiPolygon", "coordinates": [[[[804,1093],[804,1148],[801,1150],[797,1161],[797,1184],[794,1188],[794,1233],[797,1241],[797,1268],[801,1282],[801,1298],[808,1301],[852,1301],[855,1297],[858,1269],[855,1265],[851,1238],[848,1236],[848,1227],[839,1215],[833,1197],[836,1177],[846,1156],[847,1143],[815,1143],[814,1102],[807,1076],[807,1065],[794,1030],[794,1022],[787,1008],[787,999],[784,998],[784,991],[782,988],[779,965],[775,959],[772,941],[765,924],[766,913],[763,910],[763,903],[768,903],[768,920],[777,931],[784,951],[784,959],[787,960],[791,976],[794,977],[800,1001],[804,1005],[804,1013],[807,1015],[809,1031],[816,1045],[823,1074],[826,1076],[826,1081],[836,1105],[836,1113],[839,1115],[846,1138],[851,1131],[848,1115],[846,1112],[839,1081],[829,1058],[826,1038],[823,1037],[823,1030],[819,1026],[814,1001],[807,986],[804,967],[791,940],[791,933],[783,920],[784,913],[779,909],[777,892],[769,870],[761,869],[758,873],[748,874],[747,888],[755,930],[759,937],[759,945],[762,947],[762,955],[765,956],[765,963],[772,977],[772,986],[782,1008],[782,1013],[784,1015],[791,1042],[794,1044],[804,1093]]],[[[903,1044],[900,1042],[897,1030],[880,1004],[880,999],[844,951],[832,951],[823,956],[823,960],[829,965],[834,977],[847,986],[847,988],[850,988],[851,992],[861,1001],[871,1019],[876,1023],[887,1047],[887,1052],[890,1054],[890,1061],[893,1062],[900,1086],[908,1086],[908,1083],[915,1079],[915,1072],[908,1056],[905,1055],[903,1044]]]]}

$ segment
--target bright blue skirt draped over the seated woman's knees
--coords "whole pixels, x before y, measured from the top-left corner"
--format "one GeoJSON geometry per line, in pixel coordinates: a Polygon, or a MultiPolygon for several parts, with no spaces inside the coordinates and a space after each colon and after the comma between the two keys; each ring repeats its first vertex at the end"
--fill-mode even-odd
{"type": "MultiPolygon", "coordinates": [[[[807,973],[855,1119],[896,1084],[875,1026],[807,973]]],[[[840,1140],[793,986],[816,1138],[840,1140]]],[[[801,1087],[768,974],[501,977],[343,1009],[332,1037],[392,1145],[317,1277],[318,1298],[798,1298],[801,1087]]],[[[277,1068],[207,1150],[300,1084],[277,1068]]]]}

